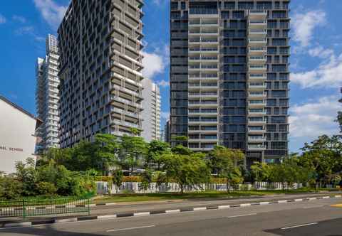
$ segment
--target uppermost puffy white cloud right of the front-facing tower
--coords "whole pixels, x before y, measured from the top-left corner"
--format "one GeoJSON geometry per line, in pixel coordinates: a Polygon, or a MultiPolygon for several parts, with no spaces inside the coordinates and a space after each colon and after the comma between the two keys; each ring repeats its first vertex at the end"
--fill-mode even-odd
{"type": "Polygon", "coordinates": [[[294,28],[294,41],[298,42],[301,47],[307,47],[311,43],[314,29],[326,23],[326,13],[321,10],[296,13],[291,23],[294,28]]]}

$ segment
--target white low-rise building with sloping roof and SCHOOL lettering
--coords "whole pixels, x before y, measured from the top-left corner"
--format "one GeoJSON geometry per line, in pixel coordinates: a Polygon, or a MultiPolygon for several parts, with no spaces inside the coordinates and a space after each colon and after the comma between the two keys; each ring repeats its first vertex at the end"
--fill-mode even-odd
{"type": "Polygon", "coordinates": [[[36,159],[39,119],[0,96],[0,171],[14,173],[17,161],[36,159]]]}

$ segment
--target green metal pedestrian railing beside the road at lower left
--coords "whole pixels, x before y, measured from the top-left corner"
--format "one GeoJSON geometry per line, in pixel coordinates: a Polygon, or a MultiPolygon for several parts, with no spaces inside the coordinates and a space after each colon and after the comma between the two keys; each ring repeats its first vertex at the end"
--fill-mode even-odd
{"type": "Polygon", "coordinates": [[[46,198],[0,200],[0,218],[61,215],[70,213],[90,214],[89,199],[46,198]]]}

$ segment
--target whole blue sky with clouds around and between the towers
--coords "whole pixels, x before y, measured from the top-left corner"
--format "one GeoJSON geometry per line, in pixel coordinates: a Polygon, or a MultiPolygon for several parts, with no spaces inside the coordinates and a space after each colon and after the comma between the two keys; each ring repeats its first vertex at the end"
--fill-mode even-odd
{"type": "MultiPolygon", "coordinates": [[[[0,3],[0,95],[36,113],[35,65],[45,55],[45,37],[56,34],[69,0],[0,3]]],[[[162,124],[169,114],[169,4],[145,0],[144,75],[160,85],[162,124]]],[[[341,0],[291,2],[290,150],[321,134],[337,134],[341,109],[341,0]]]]}

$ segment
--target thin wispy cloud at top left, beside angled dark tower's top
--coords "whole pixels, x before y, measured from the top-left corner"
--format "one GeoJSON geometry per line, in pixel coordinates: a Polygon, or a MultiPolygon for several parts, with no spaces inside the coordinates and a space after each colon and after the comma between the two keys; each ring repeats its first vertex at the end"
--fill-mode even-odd
{"type": "Polygon", "coordinates": [[[60,6],[53,0],[33,0],[44,20],[53,30],[56,30],[63,20],[68,6],[60,6]]]}

